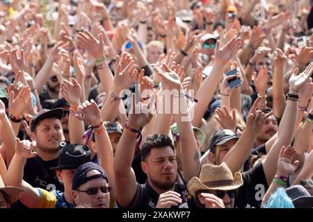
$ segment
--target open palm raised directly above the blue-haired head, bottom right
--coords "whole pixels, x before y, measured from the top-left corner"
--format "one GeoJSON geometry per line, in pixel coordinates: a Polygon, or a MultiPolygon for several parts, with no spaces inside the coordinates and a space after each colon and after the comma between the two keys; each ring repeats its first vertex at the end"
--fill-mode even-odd
{"type": "Polygon", "coordinates": [[[292,157],[294,157],[295,154],[296,148],[291,147],[290,145],[287,146],[287,148],[282,146],[277,164],[277,174],[279,176],[288,177],[296,171],[299,161],[296,160],[293,164],[291,163],[292,157]]]}

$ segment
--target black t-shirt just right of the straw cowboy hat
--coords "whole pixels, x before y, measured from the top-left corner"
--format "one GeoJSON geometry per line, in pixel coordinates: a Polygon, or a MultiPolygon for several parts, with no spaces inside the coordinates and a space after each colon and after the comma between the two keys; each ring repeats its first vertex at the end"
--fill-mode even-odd
{"type": "Polygon", "coordinates": [[[243,185],[239,187],[234,207],[259,208],[268,189],[263,164],[259,163],[250,171],[243,172],[243,185]]]}

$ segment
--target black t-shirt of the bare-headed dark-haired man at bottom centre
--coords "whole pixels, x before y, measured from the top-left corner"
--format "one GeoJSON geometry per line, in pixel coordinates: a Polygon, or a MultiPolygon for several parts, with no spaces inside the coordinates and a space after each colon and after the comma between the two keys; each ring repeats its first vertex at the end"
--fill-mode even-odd
{"type": "MultiPolygon", "coordinates": [[[[182,204],[178,206],[178,208],[188,208],[187,198],[188,191],[185,186],[175,184],[175,192],[179,193],[182,198],[182,204]]],[[[157,203],[159,200],[159,194],[157,194],[152,187],[150,187],[149,183],[146,182],[143,185],[137,183],[137,191],[136,196],[134,198],[133,203],[129,205],[131,208],[155,208],[157,207],[157,203]]],[[[177,208],[172,207],[172,208],[177,208]]]]}

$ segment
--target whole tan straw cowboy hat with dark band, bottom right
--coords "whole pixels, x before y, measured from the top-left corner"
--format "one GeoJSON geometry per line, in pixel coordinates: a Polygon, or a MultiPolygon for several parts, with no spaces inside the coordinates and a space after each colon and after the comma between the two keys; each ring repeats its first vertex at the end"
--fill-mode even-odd
{"type": "Polygon", "coordinates": [[[232,171],[223,162],[220,165],[202,165],[199,178],[191,178],[187,184],[187,189],[192,196],[195,196],[195,191],[201,189],[232,190],[241,187],[241,185],[243,185],[241,173],[236,172],[232,176],[232,171]]]}

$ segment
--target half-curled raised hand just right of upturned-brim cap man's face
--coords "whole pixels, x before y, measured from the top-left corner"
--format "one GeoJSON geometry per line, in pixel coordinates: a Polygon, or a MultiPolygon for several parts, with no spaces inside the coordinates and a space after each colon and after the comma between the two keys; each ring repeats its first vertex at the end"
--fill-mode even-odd
{"type": "Polygon", "coordinates": [[[91,126],[97,126],[102,122],[101,112],[93,99],[79,105],[79,110],[81,110],[82,115],[76,114],[75,116],[81,121],[90,123],[91,126]]]}

